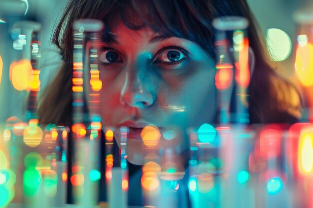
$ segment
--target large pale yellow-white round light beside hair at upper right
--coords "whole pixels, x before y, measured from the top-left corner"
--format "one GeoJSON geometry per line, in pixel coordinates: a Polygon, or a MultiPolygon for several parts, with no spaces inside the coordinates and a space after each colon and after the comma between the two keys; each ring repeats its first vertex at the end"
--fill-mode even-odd
{"type": "Polygon", "coordinates": [[[287,33],[280,29],[267,30],[266,45],[273,61],[283,61],[291,53],[292,42],[287,33]]]}

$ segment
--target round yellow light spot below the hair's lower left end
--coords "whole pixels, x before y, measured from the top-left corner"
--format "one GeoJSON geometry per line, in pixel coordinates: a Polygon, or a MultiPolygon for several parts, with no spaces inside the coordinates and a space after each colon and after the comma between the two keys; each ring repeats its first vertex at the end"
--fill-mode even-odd
{"type": "Polygon", "coordinates": [[[29,147],[36,147],[42,141],[43,131],[39,126],[28,126],[24,130],[24,142],[29,147]]]}

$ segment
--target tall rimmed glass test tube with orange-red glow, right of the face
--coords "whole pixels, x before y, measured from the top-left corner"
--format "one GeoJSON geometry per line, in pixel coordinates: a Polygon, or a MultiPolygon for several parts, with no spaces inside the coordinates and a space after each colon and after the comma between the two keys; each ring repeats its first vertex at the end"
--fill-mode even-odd
{"type": "Polygon", "coordinates": [[[250,69],[246,32],[248,24],[245,18],[237,16],[213,20],[216,29],[215,84],[218,90],[220,123],[249,123],[247,88],[250,69]]]}

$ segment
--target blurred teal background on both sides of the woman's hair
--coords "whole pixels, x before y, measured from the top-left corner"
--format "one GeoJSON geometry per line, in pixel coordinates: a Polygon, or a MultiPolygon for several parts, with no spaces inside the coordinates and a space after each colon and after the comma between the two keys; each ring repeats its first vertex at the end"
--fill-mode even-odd
{"type": "MultiPolygon", "coordinates": [[[[259,22],[263,34],[266,36],[266,43],[271,58],[275,61],[281,74],[296,83],[294,62],[297,24],[295,23],[293,14],[299,9],[313,7],[313,1],[247,1],[259,22]]],[[[14,57],[16,58],[16,51],[14,53],[12,47],[13,41],[8,41],[10,35],[11,38],[13,38],[12,35],[14,36],[11,32],[14,28],[14,22],[29,20],[41,23],[40,93],[43,92],[44,87],[52,80],[61,63],[61,57],[56,48],[51,44],[50,39],[66,2],[67,0],[0,0],[0,55],[2,60],[14,60],[14,57]],[[20,6],[21,2],[22,4],[20,6]]],[[[18,36],[14,38],[15,41],[21,42],[18,36]]],[[[27,38],[26,41],[30,41],[27,38]]],[[[23,48],[24,46],[18,45],[18,47],[23,48]]],[[[19,56],[25,56],[30,59],[30,54],[27,53],[19,54],[19,56]]],[[[24,101],[29,92],[26,92],[22,87],[18,88],[12,84],[14,77],[11,77],[12,72],[10,72],[10,67],[11,63],[4,61],[3,67],[0,68],[0,122],[6,121],[10,116],[25,116],[23,115],[23,112],[25,112],[23,103],[25,103],[24,101]]]]}

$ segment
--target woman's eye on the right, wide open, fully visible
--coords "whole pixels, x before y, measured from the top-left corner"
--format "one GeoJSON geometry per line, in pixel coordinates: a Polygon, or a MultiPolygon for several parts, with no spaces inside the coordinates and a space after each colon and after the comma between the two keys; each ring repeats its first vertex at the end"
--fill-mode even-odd
{"type": "Polygon", "coordinates": [[[166,65],[179,65],[189,59],[189,52],[183,48],[170,46],[159,50],[154,58],[154,63],[166,65]]]}

